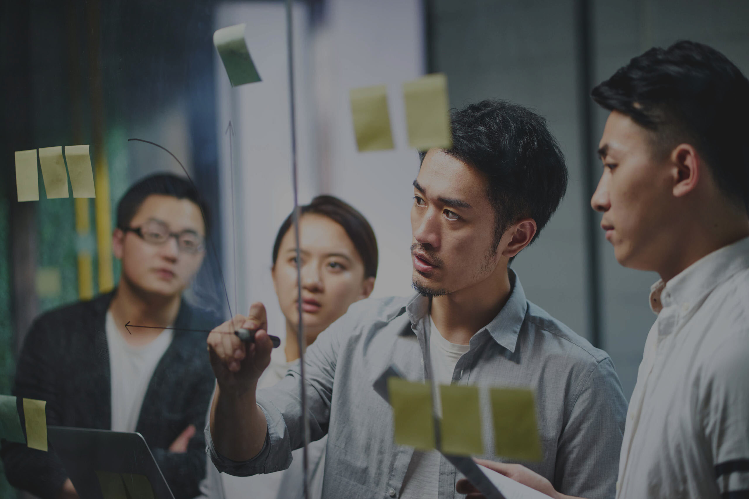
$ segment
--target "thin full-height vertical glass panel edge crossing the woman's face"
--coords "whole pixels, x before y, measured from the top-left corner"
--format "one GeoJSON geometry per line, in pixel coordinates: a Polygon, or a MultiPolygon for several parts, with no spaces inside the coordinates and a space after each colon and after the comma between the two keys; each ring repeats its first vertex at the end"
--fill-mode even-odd
{"type": "Polygon", "coordinates": [[[294,110],[294,20],[292,12],[292,1],[286,0],[286,48],[288,54],[288,100],[291,114],[291,183],[294,188],[294,238],[297,246],[297,309],[299,312],[299,325],[297,327],[297,340],[299,342],[300,362],[300,399],[302,399],[302,423],[304,429],[304,448],[302,454],[302,477],[304,486],[304,498],[309,499],[309,416],[307,414],[306,367],[304,365],[304,352],[306,341],[302,322],[302,255],[299,248],[299,189],[297,183],[297,117],[294,110]]]}

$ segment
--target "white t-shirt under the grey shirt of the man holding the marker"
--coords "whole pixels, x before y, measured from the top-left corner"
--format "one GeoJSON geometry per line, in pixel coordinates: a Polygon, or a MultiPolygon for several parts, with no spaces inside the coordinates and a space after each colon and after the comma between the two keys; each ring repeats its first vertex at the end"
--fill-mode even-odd
{"type": "MultiPolygon", "coordinates": [[[[450,343],[443,337],[434,321],[429,317],[429,359],[432,371],[432,396],[437,414],[442,414],[439,385],[450,385],[455,364],[468,350],[469,345],[450,343]]],[[[440,453],[437,450],[427,452],[414,450],[403,480],[401,499],[434,499],[440,475],[440,453]]]]}

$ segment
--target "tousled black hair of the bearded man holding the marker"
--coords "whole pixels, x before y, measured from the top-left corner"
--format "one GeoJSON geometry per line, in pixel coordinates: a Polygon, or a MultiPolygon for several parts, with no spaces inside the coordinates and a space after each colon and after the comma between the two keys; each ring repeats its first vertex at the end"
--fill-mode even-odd
{"type": "MultiPolygon", "coordinates": [[[[447,154],[487,177],[494,208],[494,251],[520,218],[536,221],[535,241],[567,191],[567,166],[546,120],[506,100],[482,100],[450,111],[447,154]]],[[[426,152],[420,153],[422,162],[426,152]]]]}

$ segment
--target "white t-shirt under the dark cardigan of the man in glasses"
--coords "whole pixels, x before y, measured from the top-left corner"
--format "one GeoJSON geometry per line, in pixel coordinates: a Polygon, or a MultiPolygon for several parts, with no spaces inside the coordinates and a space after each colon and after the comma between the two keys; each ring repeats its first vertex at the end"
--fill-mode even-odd
{"type": "Polygon", "coordinates": [[[130,346],[122,337],[111,312],[106,313],[106,343],[112,388],[112,430],[134,432],[151,376],[166,349],[172,330],[165,329],[151,343],[130,346]]]}

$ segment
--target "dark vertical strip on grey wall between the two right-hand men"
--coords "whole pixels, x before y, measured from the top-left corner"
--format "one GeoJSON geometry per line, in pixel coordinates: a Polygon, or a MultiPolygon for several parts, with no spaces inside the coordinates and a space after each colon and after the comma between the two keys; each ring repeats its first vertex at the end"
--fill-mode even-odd
{"type": "Polygon", "coordinates": [[[577,34],[577,100],[580,105],[580,155],[583,163],[583,195],[585,202],[586,275],[588,290],[588,330],[590,343],[601,347],[601,275],[598,261],[598,216],[589,206],[595,191],[593,151],[593,107],[589,96],[592,88],[592,23],[589,0],[575,2],[575,33],[577,34]]]}

